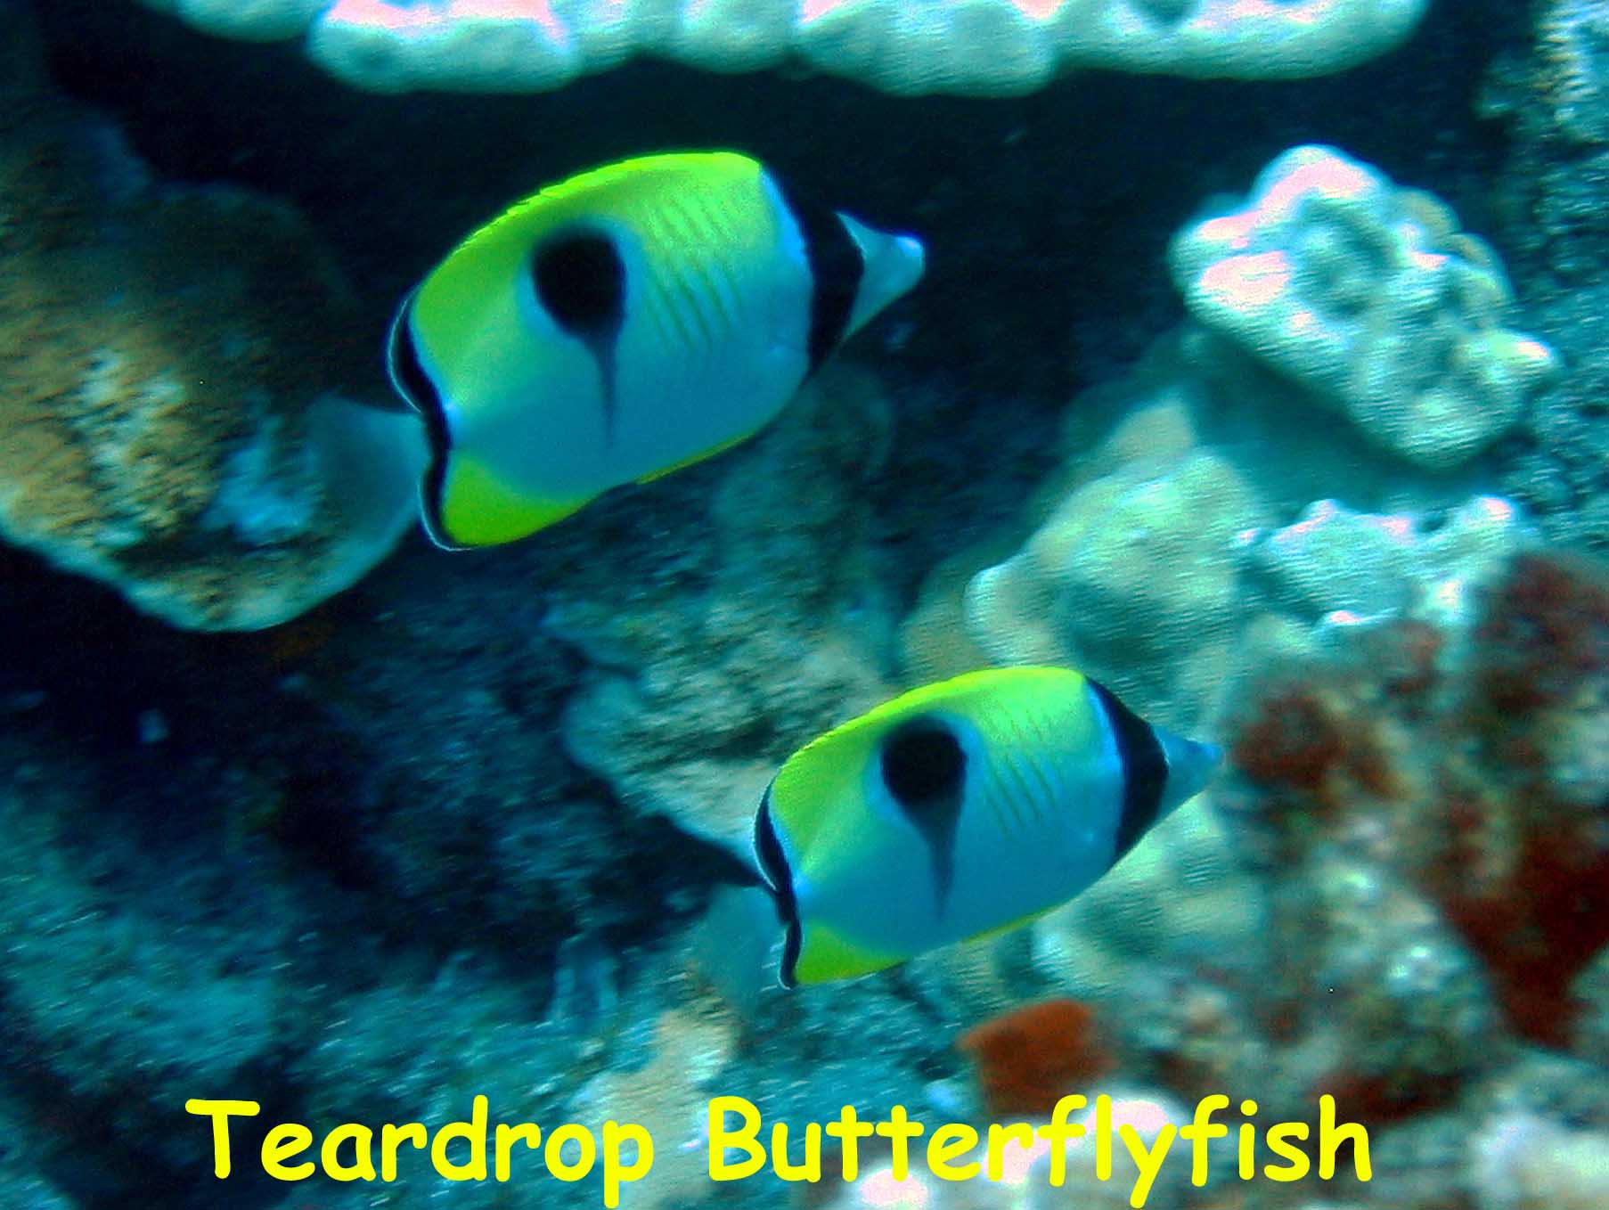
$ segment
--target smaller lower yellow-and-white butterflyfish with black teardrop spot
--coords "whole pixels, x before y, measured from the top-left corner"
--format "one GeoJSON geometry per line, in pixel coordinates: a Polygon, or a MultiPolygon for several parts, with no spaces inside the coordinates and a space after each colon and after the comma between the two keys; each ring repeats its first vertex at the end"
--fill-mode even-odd
{"type": "Polygon", "coordinates": [[[784,986],[1033,920],[1115,866],[1218,759],[1065,668],[969,673],[829,731],[787,759],[755,819],[784,986]]]}

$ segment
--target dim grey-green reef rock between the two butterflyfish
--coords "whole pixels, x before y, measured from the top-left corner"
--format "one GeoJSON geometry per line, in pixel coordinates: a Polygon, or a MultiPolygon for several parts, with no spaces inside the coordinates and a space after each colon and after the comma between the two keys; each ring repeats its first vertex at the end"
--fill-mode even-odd
{"type": "MultiPolygon", "coordinates": [[[[628,805],[745,838],[788,753],[893,697],[891,624],[851,539],[887,425],[874,380],[835,367],[751,449],[710,468],[722,473],[714,533],[700,536],[687,582],[608,576],[557,594],[544,624],[589,663],[565,748],[628,805]]],[[[711,492],[697,476],[673,489],[711,492]]]]}

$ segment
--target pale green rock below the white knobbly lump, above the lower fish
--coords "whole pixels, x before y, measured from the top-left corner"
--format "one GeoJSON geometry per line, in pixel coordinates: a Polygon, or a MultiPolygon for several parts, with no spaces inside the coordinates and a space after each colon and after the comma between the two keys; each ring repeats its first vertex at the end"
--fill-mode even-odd
{"type": "Polygon", "coordinates": [[[1511,500],[1408,470],[1310,404],[1199,327],[1158,340],[1068,407],[1027,537],[930,574],[901,628],[906,674],[1072,665],[1170,726],[1212,729],[1247,671],[1337,626],[1458,621],[1538,541],[1511,500]]]}

